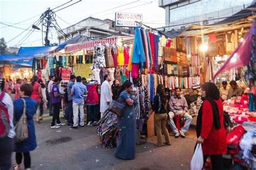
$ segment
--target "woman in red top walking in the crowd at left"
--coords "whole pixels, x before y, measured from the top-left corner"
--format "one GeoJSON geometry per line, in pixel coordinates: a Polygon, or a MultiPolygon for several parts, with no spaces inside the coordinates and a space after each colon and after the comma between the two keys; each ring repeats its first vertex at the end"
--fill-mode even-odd
{"type": "Polygon", "coordinates": [[[42,95],[41,85],[37,81],[38,81],[38,77],[33,76],[32,82],[31,82],[31,85],[33,87],[31,98],[37,101],[36,122],[41,123],[41,121],[39,120],[39,117],[40,117],[40,104],[41,104],[41,99],[43,98],[43,95],[42,95]]]}

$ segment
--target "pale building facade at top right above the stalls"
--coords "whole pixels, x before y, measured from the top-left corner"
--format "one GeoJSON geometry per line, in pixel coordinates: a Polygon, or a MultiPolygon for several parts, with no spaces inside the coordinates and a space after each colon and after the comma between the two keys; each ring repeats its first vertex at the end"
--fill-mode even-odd
{"type": "Polygon", "coordinates": [[[214,24],[246,8],[252,0],[159,0],[165,9],[167,30],[178,30],[190,24],[214,24]]]}

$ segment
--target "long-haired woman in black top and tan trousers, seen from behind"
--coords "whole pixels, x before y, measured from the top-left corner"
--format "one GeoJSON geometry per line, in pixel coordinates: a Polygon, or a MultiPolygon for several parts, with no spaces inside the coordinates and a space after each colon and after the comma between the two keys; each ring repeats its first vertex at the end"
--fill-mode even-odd
{"type": "MultiPolygon", "coordinates": [[[[157,143],[156,146],[163,146],[162,131],[165,137],[165,145],[171,145],[167,124],[167,97],[165,95],[164,86],[159,84],[157,86],[157,94],[154,97],[152,110],[154,111],[154,126],[156,127],[157,143]]],[[[152,112],[151,112],[152,113],[152,112]]]]}

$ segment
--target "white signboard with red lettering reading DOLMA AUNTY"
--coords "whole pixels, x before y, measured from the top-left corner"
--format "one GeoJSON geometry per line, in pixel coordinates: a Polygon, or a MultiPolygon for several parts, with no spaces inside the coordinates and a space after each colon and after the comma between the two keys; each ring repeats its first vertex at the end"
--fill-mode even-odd
{"type": "Polygon", "coordinates": [[[116,26],[134,27],[138,25],[136,22],[142,22],[142,18],[142,13],[116,12],[116,26]]]}

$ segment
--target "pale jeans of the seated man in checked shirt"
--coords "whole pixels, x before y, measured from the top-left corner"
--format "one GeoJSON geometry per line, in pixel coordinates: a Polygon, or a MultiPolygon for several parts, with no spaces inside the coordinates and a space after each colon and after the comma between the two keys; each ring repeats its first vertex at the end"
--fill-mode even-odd
{"type": "MultiPolygon", "coordinates": [[[[177,113],[181,114],[181,113],[183,113],[183,111],[178,111],[177,113]]],[[[176,127],[176,125],[174,124],[174,121],[173,121],[174,113],[169,112],[169,116],[170,116],[170,126],[171,126],[173,132],[178,133],[179,131],[178,131],[178,129],[177,129],[177,127],[176,127]]],[[[188,129],[190,128],[190,123],[192,121],[192,116],[188,113],[185,113],[184,118],[185,118],[185,125],[183,126],[183,128],[181,128],[181,131],[187,132],[188,129]]]]}

